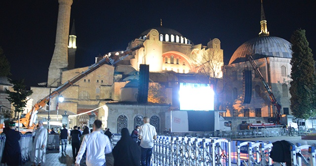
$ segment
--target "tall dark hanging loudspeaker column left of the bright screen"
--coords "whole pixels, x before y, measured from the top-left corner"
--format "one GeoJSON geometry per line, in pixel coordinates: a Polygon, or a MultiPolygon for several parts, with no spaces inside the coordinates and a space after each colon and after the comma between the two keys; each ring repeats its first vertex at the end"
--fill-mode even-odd
{"type": "Polygon", "coordinates": [[[139,65],[138,95],[139,103],[147,103],[149,84],[149,65],[139,65]]]}

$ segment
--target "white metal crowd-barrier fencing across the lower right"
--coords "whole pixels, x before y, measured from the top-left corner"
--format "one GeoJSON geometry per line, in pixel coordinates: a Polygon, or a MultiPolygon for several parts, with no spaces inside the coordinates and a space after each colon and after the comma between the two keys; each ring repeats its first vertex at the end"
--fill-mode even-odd
{"type": "MultiPolygon", "coordinates": [[[[282,131],[282,129],[250,131],[241,130],[242,134],[238,135],[254,137],[256,132],[260,136],[276,136],[277,133],[279,135],[286,134],[286,130],[282,131]]],[[[269,157],[273,147],[271,142],[179,136],[208,135],[209,133],[187,132],[158,135],[158,139],[154,140],[152,166],[273,166],[279,164],[274,163],[269,157]]],[[[113,147],[119,139],[119,134],[112,137],[113,147]]],[[[296,144],[290,148],[292,151],[292,166],[316,166],[315,144],[313,146],[296,144]]]]}

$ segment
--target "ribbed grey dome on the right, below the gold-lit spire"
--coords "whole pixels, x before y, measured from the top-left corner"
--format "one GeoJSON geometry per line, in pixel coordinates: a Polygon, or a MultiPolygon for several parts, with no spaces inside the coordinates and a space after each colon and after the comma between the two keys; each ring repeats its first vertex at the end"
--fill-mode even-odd
{"type": "Polygon", "coordinates": [[[253,55],[253,59],[271,56],[292,58],[291,45],[290,42],[278,37],[257,37],[241,44],[234,52],[229,64],[245,62],[246,54],[253,55]]]}

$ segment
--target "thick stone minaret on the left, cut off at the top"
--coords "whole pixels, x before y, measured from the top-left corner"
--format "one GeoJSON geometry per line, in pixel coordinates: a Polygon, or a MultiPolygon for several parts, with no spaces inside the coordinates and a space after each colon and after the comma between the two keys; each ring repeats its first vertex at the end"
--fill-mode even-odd
{"type": "Polygon", "coordinates": [[[68,35],[70,24],[70,9],[73,0],[58,0],[58,19],[55,49],[48,68],[47,86],[61,85],[62,71],[68,68],[68,35]]]}

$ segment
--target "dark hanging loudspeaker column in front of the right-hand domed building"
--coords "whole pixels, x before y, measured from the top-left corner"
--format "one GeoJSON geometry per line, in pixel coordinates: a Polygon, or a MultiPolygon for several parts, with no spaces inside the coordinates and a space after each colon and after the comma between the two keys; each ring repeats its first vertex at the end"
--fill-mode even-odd
{"type": "Polygon", "coordinates": [[[244,104],[249,104],[252,95],[252,70],[243,71],[244,104]]]}

